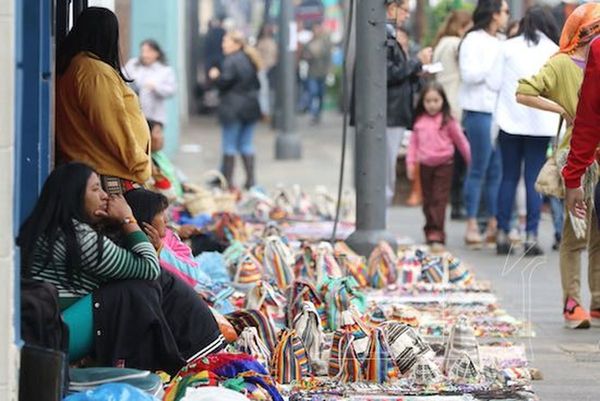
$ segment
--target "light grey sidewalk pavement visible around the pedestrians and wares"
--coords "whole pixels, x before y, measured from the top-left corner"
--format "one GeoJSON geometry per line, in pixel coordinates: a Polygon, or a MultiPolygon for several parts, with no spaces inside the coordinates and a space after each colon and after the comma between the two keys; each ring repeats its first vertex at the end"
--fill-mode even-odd
{"type": "MultiPolygon", "coordinates": [[[[299,184],[312,192],[325,185],[335,193],[339,177],[342,118],[324,115],[321,125],[309,126],[309,118],[299,116],[298,130],[303,145],[302,160],[275,160],[275,132],[261,124],[257,127],[257,182],[268,190],[299,184]]],[[[349,129],[350,137],[353,129],[349,129]]],[[[349,141],[351,142],[351,141],[349,141]]],[[[346,188],[352,183],[352,148],[348,146],[345,169],[346,188]]],[[[180,151],[173,159],[194,181],[220,163],[220,129],[216,117],[192,117],[180,138],[180,151]]],[[[236,165],[234,181],[244,180],[241,162],[236,165]]],[[[388,228],[398,236],[423,240],[419,208],[395,207],[388,212],[388,228]],[[418,228],[417,228],[418,227],[418,228]]],[[[544,215],[539,239],[546,255],[523,259],[496,256],[493,250],[471,251],[463,245],[464,223],[448,221],[448,250],[473,267],[477,276],[491,280],[503,308],[516,318],[530,321],[536,337],[524,339],[532,367],[541,370],[544,379],[534,382],[543,401],[596,401],[600,399],[600,329],[573,331],[563,328],[558,253],[551,250],[553,228],[544,215]]],[[[587,260],[584,256],[582,260],[587,260]]],[[[584,266],[584,269],[587,268],[584,266]]],[[[584,300],[587,274],[582,274],[584,300]]]]}

